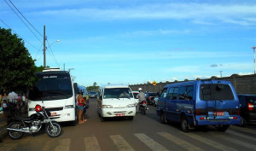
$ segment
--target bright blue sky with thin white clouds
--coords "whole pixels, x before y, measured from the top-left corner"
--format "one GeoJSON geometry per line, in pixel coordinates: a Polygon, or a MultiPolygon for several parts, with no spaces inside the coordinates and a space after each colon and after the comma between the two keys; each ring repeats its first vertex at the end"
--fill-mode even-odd
{"type": "Polygon", "coordinates": [[[38,67],[44,26],[47,66],[84,86],[254,73],[255,0],[0,1],[38,67]]]}

